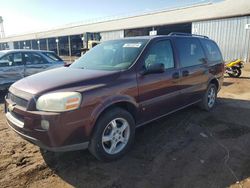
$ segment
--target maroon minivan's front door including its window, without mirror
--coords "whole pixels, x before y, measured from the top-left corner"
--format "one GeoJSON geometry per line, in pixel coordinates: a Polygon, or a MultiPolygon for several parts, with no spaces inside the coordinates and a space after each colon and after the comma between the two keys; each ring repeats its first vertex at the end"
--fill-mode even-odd
{"type": "Polygon", "coordinates": [[[175,64],[170,40],[153,42],[141,60],[139,70],[147,69],[154,63],[162,63],[165,72],[157,74],[140,74],[138,76],[139,103],[141,122],[163,116],[181,106],[179,95],[179,70],[175,64]]]}

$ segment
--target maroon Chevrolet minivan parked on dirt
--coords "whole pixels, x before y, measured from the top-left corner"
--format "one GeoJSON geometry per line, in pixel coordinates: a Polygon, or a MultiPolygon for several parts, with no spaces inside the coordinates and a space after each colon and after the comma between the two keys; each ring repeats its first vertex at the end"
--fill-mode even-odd
{"type": "Polygon", "coordinates": [[[103,42],[70,67],[14,83],[6,96],[10,127],[49,151],[88,148],[114,160],[135,128],[199,103],[210,110],[223,82],[217,44],[172,33],[103,42]]]}

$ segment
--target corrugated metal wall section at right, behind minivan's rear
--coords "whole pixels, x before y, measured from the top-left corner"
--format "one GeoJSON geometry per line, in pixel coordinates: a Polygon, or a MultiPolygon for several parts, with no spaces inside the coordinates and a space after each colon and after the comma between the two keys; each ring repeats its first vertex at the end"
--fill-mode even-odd
{"type": "Polygon", "coordinates": [[[206,35],[220,46],[226,61],[241,58],[250,61],[250,16],[192,23],[192,33],[206,35]]]}

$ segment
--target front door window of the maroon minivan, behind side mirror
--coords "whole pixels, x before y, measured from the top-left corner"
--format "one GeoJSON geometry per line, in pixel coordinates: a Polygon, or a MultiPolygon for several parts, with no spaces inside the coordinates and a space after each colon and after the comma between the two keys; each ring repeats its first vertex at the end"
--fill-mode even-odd
{"type": "Polygon", "coordinates": [[[162,63],[165,69],[174,67],[174,56],[169,40],[163,40],[153,44],[144,60],[144,65],[147,68],[149,65],[154,63],[162,63]]]}

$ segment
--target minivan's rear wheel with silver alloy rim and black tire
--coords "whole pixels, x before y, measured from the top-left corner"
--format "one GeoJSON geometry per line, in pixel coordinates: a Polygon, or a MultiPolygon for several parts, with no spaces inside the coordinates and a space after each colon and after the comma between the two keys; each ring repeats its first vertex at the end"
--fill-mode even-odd
{"type": "Polygon", "coordinates": [[[210,111],[213,109],[216,99],[217,99],[217,87],[215,84],[209,84],[206,93],[202,97],[202,101],[200,103],[200,107],[203,110],[210,111]]]}

